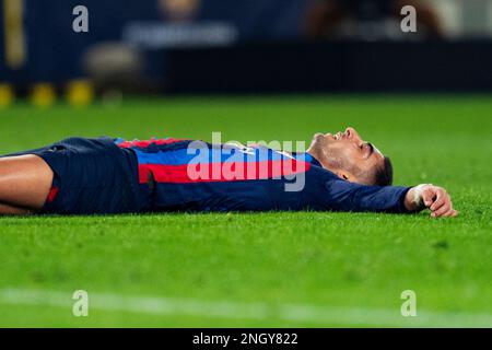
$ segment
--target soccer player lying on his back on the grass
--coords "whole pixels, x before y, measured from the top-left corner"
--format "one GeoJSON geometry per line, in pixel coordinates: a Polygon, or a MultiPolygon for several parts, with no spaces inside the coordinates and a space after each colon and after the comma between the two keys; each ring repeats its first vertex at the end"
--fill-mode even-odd
{"type": "Polygon", "coordinates": [[[389,159],[353,128],[307,152],[181,139],[70,138],[0,158],[0,213],[370,211],[455,217],[433,185],[391,186],[389,159]]]}

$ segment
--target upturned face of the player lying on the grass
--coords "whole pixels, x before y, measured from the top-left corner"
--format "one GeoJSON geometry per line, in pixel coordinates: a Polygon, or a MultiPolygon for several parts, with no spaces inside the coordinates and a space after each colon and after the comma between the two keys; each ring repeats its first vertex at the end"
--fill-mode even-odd
{"type": "Polygon", "coordinates": [[[344,132],[316,133],[312,148],[321,152],[320,163],[339,176],[349,180],[364,183],[358,174],[380,166],[384,155],[371,142],[362,140],[353,128],[344,132]],[[325,164],[326,163],[326,164],[325,164]]]}

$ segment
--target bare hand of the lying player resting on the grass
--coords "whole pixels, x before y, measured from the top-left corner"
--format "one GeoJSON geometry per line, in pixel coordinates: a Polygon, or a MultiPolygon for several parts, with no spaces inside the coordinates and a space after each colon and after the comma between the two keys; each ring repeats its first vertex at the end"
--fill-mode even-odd
{"type": "Polygon", "coordinates": [[[422,184],[410,188],[405,197],[405,207],[409,211],[431,210],[432,218],[456,217],[453,202],[447,191],[438,186],[422,184]]]}

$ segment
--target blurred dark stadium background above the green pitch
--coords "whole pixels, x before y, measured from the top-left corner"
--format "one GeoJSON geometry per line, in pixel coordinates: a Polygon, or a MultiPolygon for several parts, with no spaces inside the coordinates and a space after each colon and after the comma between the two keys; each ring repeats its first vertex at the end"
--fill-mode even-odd
{"type": "Polygon", "coordinates": [[[83,105],[93,93],[492,89],[490,0],[1,3],[3,105],[30,93],[83,105]],[[402,33],[399,9],[412,3],[418,32],[402,33]],[[89,10],[87,33],[72,30],[77,5],[89,10]]]}

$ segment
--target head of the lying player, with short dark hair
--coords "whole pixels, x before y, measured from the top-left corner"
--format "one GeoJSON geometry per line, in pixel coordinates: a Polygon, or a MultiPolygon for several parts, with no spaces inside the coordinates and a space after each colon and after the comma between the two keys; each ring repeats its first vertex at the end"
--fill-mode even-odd
{"type": "Polygon", "coordinates": [[[335,135],[316,133],[307,152],[324,167],[349,182],[379,186],[393,183],[389,158],[362,140],[353,128],[335,135]]]}

